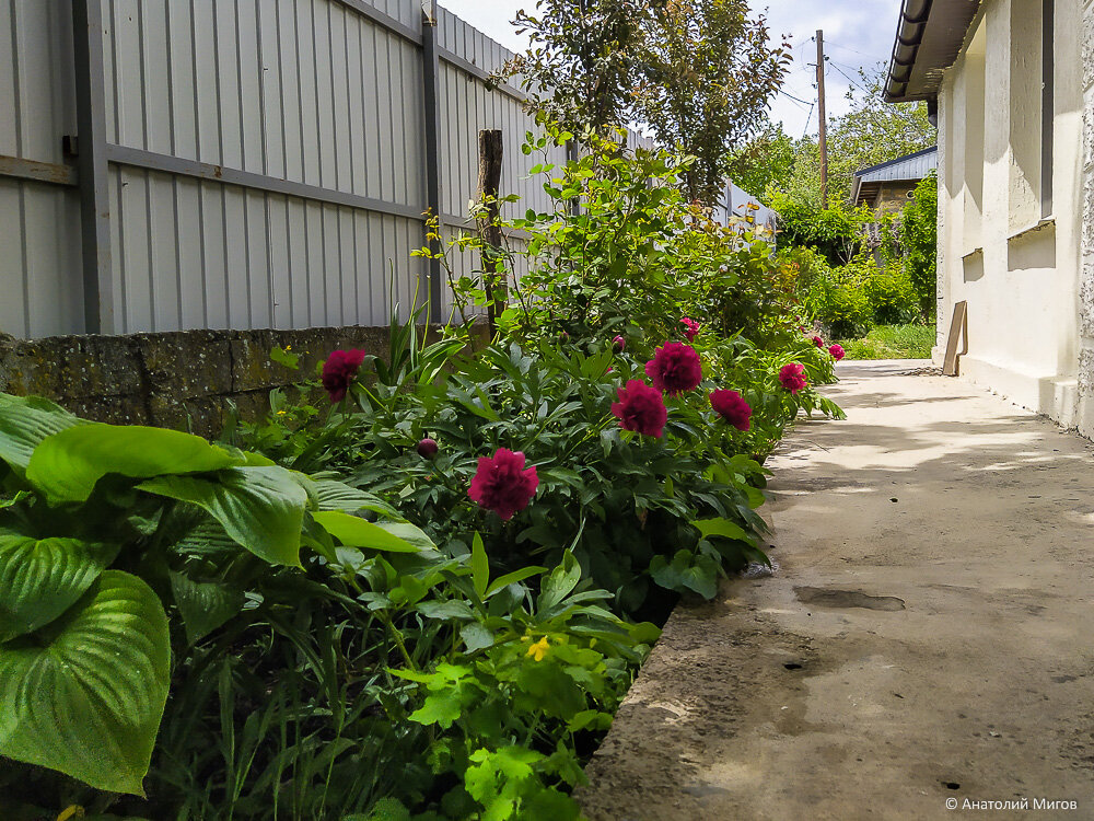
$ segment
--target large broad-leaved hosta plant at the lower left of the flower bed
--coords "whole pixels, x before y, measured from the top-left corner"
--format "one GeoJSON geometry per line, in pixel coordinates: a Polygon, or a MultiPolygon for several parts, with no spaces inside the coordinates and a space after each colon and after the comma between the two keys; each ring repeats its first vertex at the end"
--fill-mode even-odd
{"type": "MultiPolygon", "coordinates": [[[[335,558],[321,509],[371,498],[188,433],[7,394],[0,482],[0,755],[137,795],[172,674],[167,613],[196,640],[245,604],[230,578],[201,574],[200,554],[300,567],[305,543],[335,558]]],[[[340,514],[365,544],[416,550],[411,525],[340,514]]]]}

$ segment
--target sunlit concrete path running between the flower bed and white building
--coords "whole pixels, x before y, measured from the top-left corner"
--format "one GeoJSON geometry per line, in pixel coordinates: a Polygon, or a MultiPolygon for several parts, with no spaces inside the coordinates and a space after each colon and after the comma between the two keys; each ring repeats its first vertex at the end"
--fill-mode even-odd
{"type": "Polygon", "coordinates": [[[1092,444],[923,365],[780,447],[778,571],[673,614],[591,819],[1094,819],[1092,444]]]}

